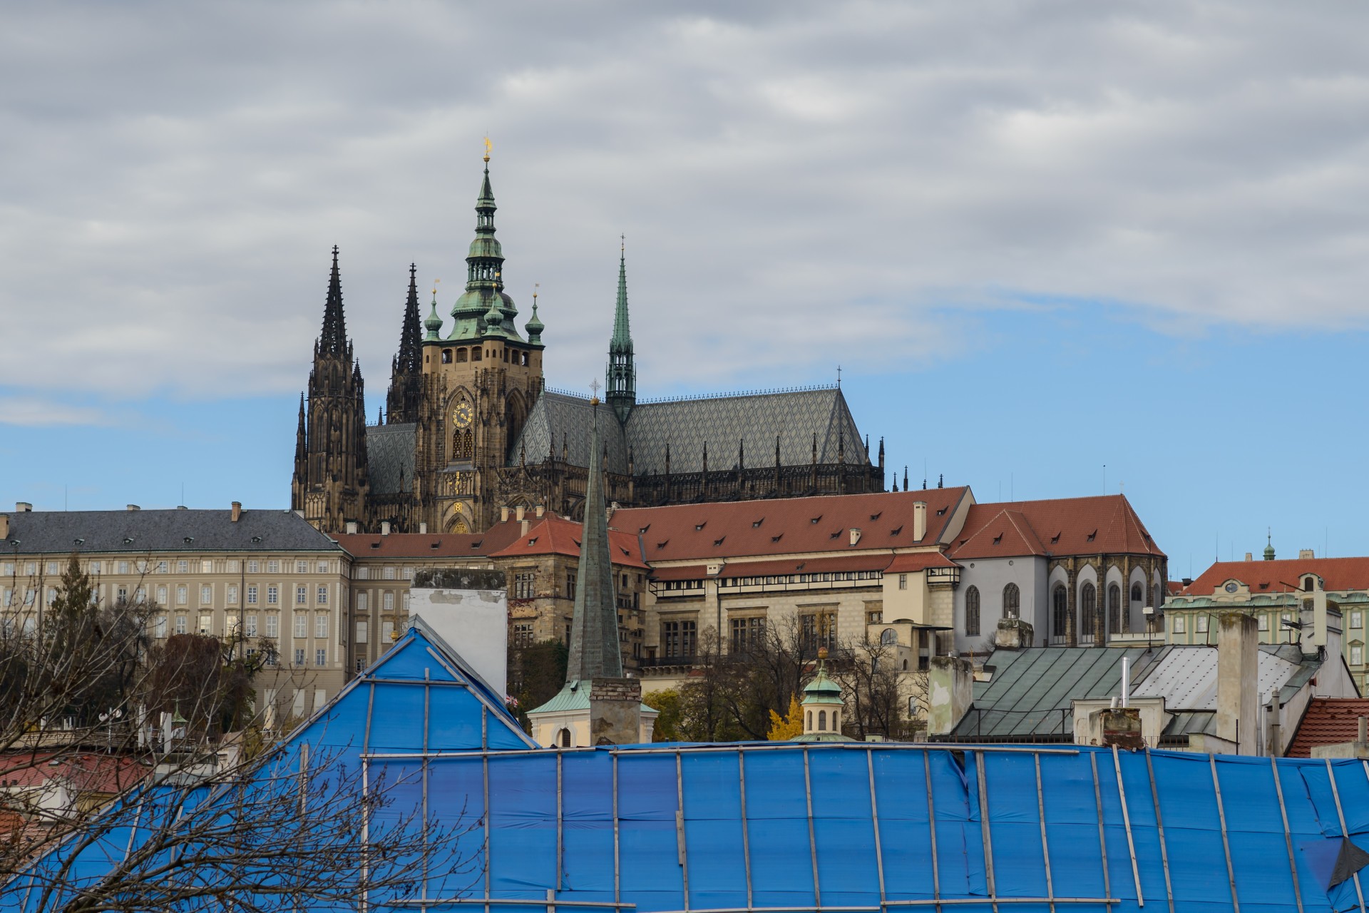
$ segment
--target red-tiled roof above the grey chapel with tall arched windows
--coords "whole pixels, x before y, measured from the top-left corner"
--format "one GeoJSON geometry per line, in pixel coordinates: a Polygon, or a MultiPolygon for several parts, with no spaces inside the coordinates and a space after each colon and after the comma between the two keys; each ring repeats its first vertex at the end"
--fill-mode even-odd
{"type": "Polygon", "coordinates": [[[976,504],[950,548],[957,560],[1029,554],[1165,557],[1123,494],[976,504]]]}

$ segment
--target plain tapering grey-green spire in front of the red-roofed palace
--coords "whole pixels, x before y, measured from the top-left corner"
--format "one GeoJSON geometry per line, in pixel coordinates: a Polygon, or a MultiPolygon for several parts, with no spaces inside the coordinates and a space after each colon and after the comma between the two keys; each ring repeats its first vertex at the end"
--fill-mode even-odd
{"type": "Polygon", "coordinates": [[[617,646],[617,606],[613,601],[613,565],[609,561],[604,463],[600,454],[598,397],[590,400],[594,420],[590,433],[590,467],[585,485],[585,528],[580,532],[579,579],[571,617],[571,653],[565,680],[589,682],[622,678],[623,656],[617,646]]]}

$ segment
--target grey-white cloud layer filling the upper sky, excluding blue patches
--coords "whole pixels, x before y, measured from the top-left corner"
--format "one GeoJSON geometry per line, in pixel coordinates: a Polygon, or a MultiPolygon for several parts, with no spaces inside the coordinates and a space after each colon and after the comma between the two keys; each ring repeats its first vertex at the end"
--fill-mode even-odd
{"type": "Polygon", "coordinates": [[[1246,1],[11,10],[0,385],[298,389],[335,242],[383,390],[409,261],[444,312],[460,290],[486,130],[553,383],[602,370],[620,231],[661,391],[934,363],[969,312],[1051,300],[1362,327],[1366,26],[1246,1]]]}

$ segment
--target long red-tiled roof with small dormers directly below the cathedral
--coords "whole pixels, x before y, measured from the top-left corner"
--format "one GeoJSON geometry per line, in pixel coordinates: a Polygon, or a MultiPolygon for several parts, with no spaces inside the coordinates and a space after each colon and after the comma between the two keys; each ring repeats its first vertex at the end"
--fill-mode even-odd
{"type": "Polygon", "coordinates": [[[648,561],[893,550],[941,541],[962,502],[973,502],[968,487],[719,501],[623,508],[613,512],[609,526],[641,535],[648,561]],[[913,538],[917,501],[927,504],[927,532],[921,542],[913,538]],[[853,528],[861,531],[854,546],[853,528]]]}

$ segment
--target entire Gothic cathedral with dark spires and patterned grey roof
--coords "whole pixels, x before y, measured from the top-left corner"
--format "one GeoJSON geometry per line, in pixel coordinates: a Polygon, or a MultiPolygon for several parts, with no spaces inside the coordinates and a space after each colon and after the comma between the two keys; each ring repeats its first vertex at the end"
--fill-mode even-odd
{"type": "MultiPolygon", "coordinates": [[[[318,528],[481,532],[504,508],[583,517],[593,405],[545,385],[545,324],[535,296],[530,319],[522,330],[516,323],[496,208],[486,156],[464,290],[449,319],[438,315],[434,290],[420,323],[416,267],[409,267],[386,409],[371,426],[334,249],[292,480],[292,508],[318,528]]],[[[883,442],[875,463],[839,385],[639,401],[622,253],[605,379],[608,427],[598,456],[611,504],[884,489],[883,442]]]]}

